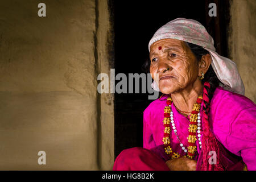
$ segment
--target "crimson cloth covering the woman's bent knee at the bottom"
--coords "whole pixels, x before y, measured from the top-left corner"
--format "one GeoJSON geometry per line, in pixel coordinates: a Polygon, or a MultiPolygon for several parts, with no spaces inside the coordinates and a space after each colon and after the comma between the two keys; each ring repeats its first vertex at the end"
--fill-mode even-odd
{"type": "Polygon", "coordinates": [[[146,148],[123,150],[115,159],[113,171],[170,171],[163,159],[146,148]]]}

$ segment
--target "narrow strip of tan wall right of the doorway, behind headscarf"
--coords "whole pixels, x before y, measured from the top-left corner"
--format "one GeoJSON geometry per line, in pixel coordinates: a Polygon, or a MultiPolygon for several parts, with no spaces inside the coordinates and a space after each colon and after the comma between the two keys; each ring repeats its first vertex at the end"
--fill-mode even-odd
{"type": "Polygon", "coordinates": [[[233,0],[230,15],[230,56],[245,84],[245,96],[256,103],[256,1],[233,0]]]}

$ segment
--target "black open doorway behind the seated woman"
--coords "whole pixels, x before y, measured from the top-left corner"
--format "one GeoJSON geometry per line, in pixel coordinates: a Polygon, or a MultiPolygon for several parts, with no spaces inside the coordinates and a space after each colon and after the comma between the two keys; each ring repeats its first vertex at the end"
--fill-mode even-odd
{"type": "MultiPolygon", "coordinates": [[[[155,31],[175,18],[195,19],[212,35],[217,52],[228,56],[226,34],[229,1],[110,1],[114,14],[115,75],[142,73],[148,42],[155,31]],[[217,16],[209,17],[209,3],[217,16]]],[[[148,94],[115,94],[115,157],[125,148],[141,146],[143,111],[148,94]]],[[[159,94],[160,96],[160,94],[159,94]]]]}

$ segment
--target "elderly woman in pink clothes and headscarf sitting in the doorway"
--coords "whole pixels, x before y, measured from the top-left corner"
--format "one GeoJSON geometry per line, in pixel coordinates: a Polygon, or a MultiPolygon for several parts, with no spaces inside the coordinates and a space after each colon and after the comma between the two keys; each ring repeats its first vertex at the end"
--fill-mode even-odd
{"type": "Polygon", "coordinates": [[[256,105],[204,26],[172,20],[148,48],[163,96],[144,110],[143,148],[123,150],[113,169],[256,170],[256,105]]]}

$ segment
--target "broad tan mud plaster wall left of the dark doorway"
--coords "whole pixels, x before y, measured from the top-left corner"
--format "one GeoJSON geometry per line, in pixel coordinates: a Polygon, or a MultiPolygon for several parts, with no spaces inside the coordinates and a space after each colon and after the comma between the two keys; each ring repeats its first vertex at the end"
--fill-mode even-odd
{"type": "Polygon", "coordinates": [[[0,17],[0,169],[112,169],[113,96],[97,93],[110,71],[108,2],[1,1],[0,17]]]}

